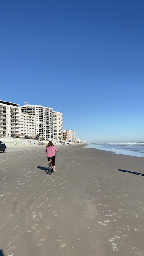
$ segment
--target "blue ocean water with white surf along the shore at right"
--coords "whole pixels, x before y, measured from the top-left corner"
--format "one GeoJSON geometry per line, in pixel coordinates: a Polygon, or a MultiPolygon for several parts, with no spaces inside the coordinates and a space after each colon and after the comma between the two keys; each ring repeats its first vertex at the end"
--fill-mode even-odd
{"type": "Polygon", "coordinates": [[[133,143],[89,143],[85,148],[96,148],[135,157],[144,157],[144,142],[133,143]]]}

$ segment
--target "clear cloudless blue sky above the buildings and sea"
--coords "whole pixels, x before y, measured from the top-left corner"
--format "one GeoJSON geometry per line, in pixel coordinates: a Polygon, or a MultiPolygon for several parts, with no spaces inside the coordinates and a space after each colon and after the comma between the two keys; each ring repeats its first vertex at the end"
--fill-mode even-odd
{"type": "Polygon", "coordinates": [[[0,3],[0,99],[87,142],[144,141],[144,1],[0,3]]]}

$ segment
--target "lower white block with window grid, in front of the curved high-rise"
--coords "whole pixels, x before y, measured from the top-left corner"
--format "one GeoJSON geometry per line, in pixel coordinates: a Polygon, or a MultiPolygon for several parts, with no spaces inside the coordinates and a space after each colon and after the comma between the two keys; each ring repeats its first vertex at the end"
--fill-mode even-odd
{"type": "Polygon", "coordinates": [[[20,113],[20,133],[35,136],[35,116],[20,113]]]}

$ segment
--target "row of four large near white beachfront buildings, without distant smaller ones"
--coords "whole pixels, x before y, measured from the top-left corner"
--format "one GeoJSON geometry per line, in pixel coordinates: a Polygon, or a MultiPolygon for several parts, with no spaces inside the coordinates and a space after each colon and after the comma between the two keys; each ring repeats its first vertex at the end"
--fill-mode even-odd
{"type": "Polygon", "coordinates": [[[15,137],[24,134],[45,140],[62,138],[62,113],[39,105],[19,104],[0,100],[0,137],[15,137]]]}

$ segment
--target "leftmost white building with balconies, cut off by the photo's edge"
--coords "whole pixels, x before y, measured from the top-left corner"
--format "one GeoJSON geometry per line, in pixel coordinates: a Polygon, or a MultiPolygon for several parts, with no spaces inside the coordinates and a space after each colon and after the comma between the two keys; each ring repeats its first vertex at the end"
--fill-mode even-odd
{"type": "Polygon", "coordinates": [[[20,131],[18,104],[0,100],[0,137],[14,137],[20,131]]]}

